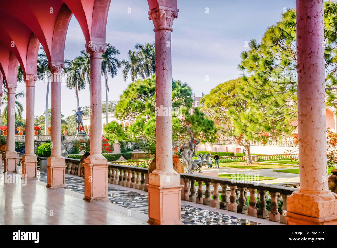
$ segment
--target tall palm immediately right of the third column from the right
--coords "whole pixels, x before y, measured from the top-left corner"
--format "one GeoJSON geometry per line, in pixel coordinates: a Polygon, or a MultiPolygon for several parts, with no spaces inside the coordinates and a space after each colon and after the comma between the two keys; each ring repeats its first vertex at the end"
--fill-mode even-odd
{"type": "Polygon", "coordinates": [[[104,75],[105,79],[105,120],[106,124],[108,124],[108,75],[112,78],[117,75],[117,69],[121,67],[121,63],[116,55],[119,55],[120,52],[110,43],[106,46],[105,53],[102,54],[102,75],[104,75]]]}

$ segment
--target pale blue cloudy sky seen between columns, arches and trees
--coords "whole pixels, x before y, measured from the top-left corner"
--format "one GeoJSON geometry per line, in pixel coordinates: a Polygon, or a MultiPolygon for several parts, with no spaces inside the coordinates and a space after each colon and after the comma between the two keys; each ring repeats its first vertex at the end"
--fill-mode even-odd
{"type": "MultiPolygon", "coordinates": [[[[280,19],[284,8],[295,8],[296,0],[178,0],[179,17],[173,23],[172,76],[188,83],[197,97],[209,93],[219,83],[237,78],[240,53],[251,39],[261,40],[266,29],[280,19]],[[205,13],[205,8],[209,13],[205,13]],[[209,81],[206,81],[206,75],[209,81]]],[[[146,0],[112,0],[106,29],[106,42],[120,50],[126,59],[135,43],[154,41],[153,22],[148,20],[146,0]],[[128,14],[128,8],[131,13],[128,14]]],[[[73,59],[84,50],[85,39],[77,20],[72,17],[65,44],[65,59],[73,59]]],[[[108,99],[117,100],[127,87],[122,68],[109,78],[108,99]]],[[[35,115],[44,111],[47,84],[35,87],[35,115]]],[[[102,78],[102,100],[105,100],[102,78]]],[[[19,84],[18,90],[25,90],[19,84]]],[[[79,94],[80,106],[90,105],[89,86],[79,94]]],[[[49,96],[50,99],[50,96],[49,96]]],[[[25,107],[25,100],[20,99],[25,107]]],[[[51,102],[51,101],[49,101],[51,102]]],[[[50,105],[49,105],[50,107],[50,105]]],[[[74,90],[62,86],[62,114],[76,108],[74,90]]]]}

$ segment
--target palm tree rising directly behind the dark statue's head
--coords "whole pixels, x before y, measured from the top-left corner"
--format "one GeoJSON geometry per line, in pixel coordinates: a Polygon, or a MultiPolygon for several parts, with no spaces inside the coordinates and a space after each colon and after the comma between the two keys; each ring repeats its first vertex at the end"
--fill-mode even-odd
{"type": "Polygon", "coordinates": [[[85,81],[81,76],[81,63],[79,63],[76,59],[66,59],[64,60],[64,63],[66,67],[63,69],[63,71],[67,74],[65,83],[69,89],[75,90],[78,109],[80,106],[79,91],[81,89],[85,89],[85,81]]]}

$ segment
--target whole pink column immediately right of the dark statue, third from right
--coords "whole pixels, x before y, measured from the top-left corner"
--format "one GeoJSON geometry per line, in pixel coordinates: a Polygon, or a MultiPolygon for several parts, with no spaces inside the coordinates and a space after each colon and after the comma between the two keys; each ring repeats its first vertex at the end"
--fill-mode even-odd
{"type": "Polygon", "coordinates": [[[88,42],[86,51],[90,54],[90,155],[84,160],[84,200],[108,199],[108,160],[102,155],[102,54],[106,43],[88,42]]]}

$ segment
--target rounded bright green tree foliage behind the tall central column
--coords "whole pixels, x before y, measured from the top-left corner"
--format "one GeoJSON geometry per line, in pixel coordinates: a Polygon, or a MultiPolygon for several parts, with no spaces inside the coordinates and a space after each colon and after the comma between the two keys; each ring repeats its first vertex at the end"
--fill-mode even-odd
{"type": "MultiPolygon", "coordinates": [[[[179,113],[173,114],[172,117],[174,147],[182,146],[189,140],[186,125],[190,126],[194,137],[202,142],[213,142],[216,138],[213,121],[198,109],[193,113],[189,112],[193,102],[191,96],[192,90],[186,83],[172,80],[172,107],[173,110],[179,110],[179,113]]],[[[116,106],[116,117],[120,120],[135,121],[129,127],[125,127],[125,131],[117,122],[109,123],[105,127],[106,137],[122,141],[146,140],[145,144],[140,146],[145,151],[155,154],[156,111],[159,111],[155,107],[155,97],[155,75],[130,83],[120,96],[116,106]]]]}

